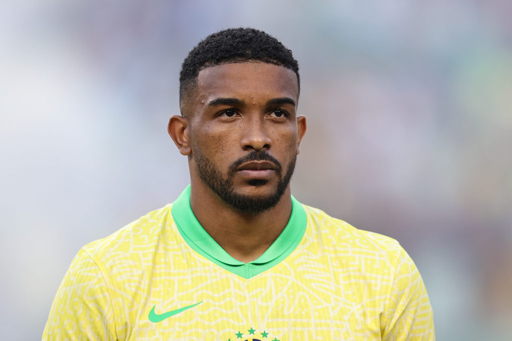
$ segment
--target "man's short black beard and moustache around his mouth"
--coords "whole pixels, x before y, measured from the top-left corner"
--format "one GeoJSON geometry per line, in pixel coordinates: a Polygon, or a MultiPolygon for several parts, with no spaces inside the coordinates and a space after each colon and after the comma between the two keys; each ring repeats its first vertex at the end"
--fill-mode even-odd
{"type": "MultiPolygon", "coordinates": [[[[262,213],[274,207],[281,197],[283,196],[288,184],[290,183],[291,176],[295,169],[295,162],[297,155],[288,164],[286,173],[283,176],[283,167],[281,163],[265,151],[257,152],[251,151],[247,155],[239,158],[233,162],[227,171],[227,176],[224,176],[220,170],[215,168],[214,164],[204,156],[198,149],[195,150],[194,160],[197,164],[197,171],[203,183],[208,186],[219,198],[224,201],[229,207],[247,214],[262,213]],[[233,177],[237,172],[237,168],[250,161],[269,161],[276,165],[276,173],[278,175],[278,185],[273,193],[268,195],[248,195],[237,193],[233,186],[233,177]]],[[[247,183],[254,187],[259,187],[267,184],[266,179],[250,179],[247,183]]]]}

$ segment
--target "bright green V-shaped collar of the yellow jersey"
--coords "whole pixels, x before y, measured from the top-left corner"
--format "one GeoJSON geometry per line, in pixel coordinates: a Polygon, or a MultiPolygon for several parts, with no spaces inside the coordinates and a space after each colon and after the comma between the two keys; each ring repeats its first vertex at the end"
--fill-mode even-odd
{"type": "Polygon", "coordinates": [[[290,220],[288,220],[285,229],[263,255],[249,263],[244,263],[231,257],[203,229],[203,226],[201,226],[190,208],[190,185],[185,188],[173,203],[172,215],[181,236],[194,251],[233,274],[248,279],[285,259],[293,252],[304,236],[307,223],[306,212],[302,204],[293,196],[291,200],[290,220]]]}

